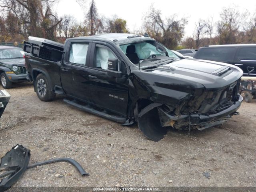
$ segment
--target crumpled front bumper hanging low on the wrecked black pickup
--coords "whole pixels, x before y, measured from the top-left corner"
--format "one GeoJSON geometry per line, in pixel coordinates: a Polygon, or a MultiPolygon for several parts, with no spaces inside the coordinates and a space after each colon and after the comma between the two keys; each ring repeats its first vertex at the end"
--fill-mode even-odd
{"type": "MultiPolygon", "coordinates": [[[[189,124],[193,126],[193,128],[197,128],[198,130],[203,130],[212,126],[216,126],[223,122],[226,122],[231,116],[240,108],[243,97],[239,95],[238,101],[236,101],[232,106],[226,108],[225,110],[218,112],[216,114],[210,115],[201,115],[201,114],[190,114],[190,115],[180,115],[180,116],[172,116],[167,114],[161,108],[159,108],[159,118],[162,126],[188,126],[189,124]],[[177,124],[176,124],[177,122],[177,124]],[[176,125],[175,125],[176,124],[176,125]]],[[[177,127],[176,127],[177,128],[177,127]]]]}

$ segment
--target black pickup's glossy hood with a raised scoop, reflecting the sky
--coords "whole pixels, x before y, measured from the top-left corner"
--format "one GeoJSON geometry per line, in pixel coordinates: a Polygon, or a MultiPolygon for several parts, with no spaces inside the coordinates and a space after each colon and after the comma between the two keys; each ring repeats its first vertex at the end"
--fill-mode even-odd
{"type": "Polygon", "coordinates": [[[243,74],[242,70],[234,65],[199,59],[182,59],[145,71],[169,77],[170,82],[175,79],[197,85],[196,87],[202,84],[209,89],[227,86],[243,74]]]}

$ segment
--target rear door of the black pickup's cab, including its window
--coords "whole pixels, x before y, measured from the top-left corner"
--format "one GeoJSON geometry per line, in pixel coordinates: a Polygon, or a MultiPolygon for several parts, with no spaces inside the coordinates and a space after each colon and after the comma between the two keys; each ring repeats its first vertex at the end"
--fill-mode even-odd
{"type": "Polygon", "coordinates": [[[70,42],[60,67],[62,88],[67,96],[88,101],[90,99],[88,66],[89,42],[70,42]]]}

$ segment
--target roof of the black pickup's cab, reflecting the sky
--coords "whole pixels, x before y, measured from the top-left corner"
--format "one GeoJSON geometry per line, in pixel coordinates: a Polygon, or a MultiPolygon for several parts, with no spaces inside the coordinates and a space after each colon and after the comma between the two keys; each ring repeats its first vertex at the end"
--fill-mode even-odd
{"type": "MultiPolygon", "coordinates": [[[[79,39],[86,38],[90,40],[109,40],[114,42],[114,44],[132,43],[132,42],[138,42],[141,40],[154,40],[153,38],[146,37],[143,35],[128,34],[128,33],[107,33],[107,34],[77,37],[77,38],[79,39]]],[[[72,38],[72,39],[75,39],[75,38],[72,38]]]]}

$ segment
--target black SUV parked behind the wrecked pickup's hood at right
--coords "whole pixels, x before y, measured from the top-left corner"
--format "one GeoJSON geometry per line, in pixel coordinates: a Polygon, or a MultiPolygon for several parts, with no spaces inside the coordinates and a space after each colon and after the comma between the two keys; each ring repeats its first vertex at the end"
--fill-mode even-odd
{"type": "Polygon", "coordinates": [[[194,58],[233,64],[243,70],[244,76],[256,76],[256,44],[204,46],[194,58]]]}

